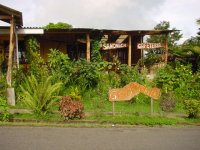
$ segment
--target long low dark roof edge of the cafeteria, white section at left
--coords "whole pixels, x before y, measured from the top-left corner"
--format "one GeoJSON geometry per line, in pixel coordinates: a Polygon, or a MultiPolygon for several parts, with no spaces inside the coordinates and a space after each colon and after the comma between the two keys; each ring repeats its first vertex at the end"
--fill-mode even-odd
{"type": "MultiPolygon", "coordinates": [[[[71,28],[71,29],[48,29],[37,27],[23,27],[16,29],[18,34],[101,34],[103,35],[117,35],[123,39],[127,35],[145,36],[145,35],[163,35],[169,34],[179,30],[107,30],[107,29],[91,29],[91,28],[71,28]],[[122,37],[123,36],[123,37],[122,37]]],[[[0,27],[1,34],[9,34],[9,27],[0,27]]],[[[120,43],[120,42],[119,42],[120,43]]]]}

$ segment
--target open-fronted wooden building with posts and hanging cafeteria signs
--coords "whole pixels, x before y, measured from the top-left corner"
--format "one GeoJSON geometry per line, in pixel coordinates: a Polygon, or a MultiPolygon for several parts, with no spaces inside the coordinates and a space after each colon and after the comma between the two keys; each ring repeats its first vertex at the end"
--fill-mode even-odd
{"type": "Polygon", "coordinates": [[[27,36],[34,36],[38,39],[40,53],[44,59],[47,58],[49,49],[53,48],[68,54],[72,60],[85,58],[90,61],[91,43],[98,38],[99,50],[104,60],[112,61],[113,57],[116,56],[121,63],[134,66],[143,57],[144,49],[151,48],[151,45],[160,44],[160,47],[165,48],[165,61],[167,62],[167,35],[173,32],[173,30],[107,30],[91,28],[44,30],[34,27],[26,28],[22,27],[22,14],[3,5],[0,5],[0,20],[11,23],[10,27],[0,26],[1,58],[2,60],[7,60],[6,58],[9,56],[11,49],[10,45],[13,43],[13,61],[17,65],[27,62],[25,46],[27,36]],[[14,23],[12,23],[12,20],[14,23]],[[166,35],[165,43],[143,43],[145,35],[161,34],[166,35]]]}

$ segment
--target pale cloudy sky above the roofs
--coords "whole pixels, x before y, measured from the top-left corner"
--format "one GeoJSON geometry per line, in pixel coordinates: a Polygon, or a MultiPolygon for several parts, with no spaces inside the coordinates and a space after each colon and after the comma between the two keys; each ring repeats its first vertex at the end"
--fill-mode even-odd
{"type": "MultiPolygon", "coordinates": [[[[200,0],[0,0],[23,13],[24,27],[66,22],[75,28],[151,30],[161,21],[196,36],[200,0]]],[[[4,25],[0,22],[0,25],[4,25]]]]}

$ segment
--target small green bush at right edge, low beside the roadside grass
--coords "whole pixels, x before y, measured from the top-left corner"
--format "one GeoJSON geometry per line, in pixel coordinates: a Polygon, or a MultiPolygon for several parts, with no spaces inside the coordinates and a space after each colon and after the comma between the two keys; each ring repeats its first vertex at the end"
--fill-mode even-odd
{"type": "Polygon", "coordinates": [[[185,100],[185,110],[189,118],[196,118],[200,112],[200,100],[185,100]]]}

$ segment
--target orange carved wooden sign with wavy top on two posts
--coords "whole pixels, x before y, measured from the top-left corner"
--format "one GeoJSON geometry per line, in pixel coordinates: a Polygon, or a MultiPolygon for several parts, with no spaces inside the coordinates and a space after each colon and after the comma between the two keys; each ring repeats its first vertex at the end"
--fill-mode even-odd
{"type": "Polygon", "coordinates": [[[143,93],[153,99],[159,99],[159,88],[147,88],[139,83],[131,82],[123,88],[109,90],[109,101],[129,101],[139,93],[143,93]]]}

